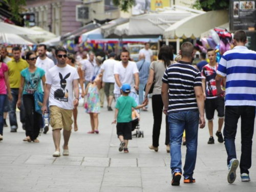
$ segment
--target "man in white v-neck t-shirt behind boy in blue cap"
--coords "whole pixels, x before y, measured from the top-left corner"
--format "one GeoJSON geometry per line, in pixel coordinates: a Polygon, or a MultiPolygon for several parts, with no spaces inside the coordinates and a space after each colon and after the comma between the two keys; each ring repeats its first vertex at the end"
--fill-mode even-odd
{"type": "Polygon", "coordinates": [[[134,97],[135,101],[138,103],[139,99],[136,95],[136,91],[139,90],[139,70],[136,62],[129,61],[130,54],[127,50],[123,50],[120,57],[121,61],[114,66],[115,99],[117,100],[118,97],[121,96],[120,88],[122,87],[122,84],[128,83],[132,88],[130,96],[134,97]]]}

